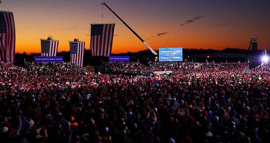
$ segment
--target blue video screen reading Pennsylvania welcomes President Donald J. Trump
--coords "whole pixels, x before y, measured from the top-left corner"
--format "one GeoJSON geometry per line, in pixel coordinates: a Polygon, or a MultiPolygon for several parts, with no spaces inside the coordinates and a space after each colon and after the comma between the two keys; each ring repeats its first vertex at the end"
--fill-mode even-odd
{"type": "Polygon", "coordinates": [[[159,61],[160,62],[173,62],[183,61],[183,48],[159,48],[159,61]]]}

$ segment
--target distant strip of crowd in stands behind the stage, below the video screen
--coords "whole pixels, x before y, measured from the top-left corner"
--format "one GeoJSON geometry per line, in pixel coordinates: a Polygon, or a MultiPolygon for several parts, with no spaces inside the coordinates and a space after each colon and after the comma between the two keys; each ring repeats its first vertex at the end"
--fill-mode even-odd
{"type": "Polygon", "coordinates": [[[203,63],[200,68],[196,69],[192,62],[151,62],[142,64],[140,62],[103,62],[103,65],[111,71],[151,74],[155,71],[173,71],[175,74],[198,72],[201,70],[218,71],[218,70],[242,70],[247,63],[240,62],[208,62],[203,63]]]}

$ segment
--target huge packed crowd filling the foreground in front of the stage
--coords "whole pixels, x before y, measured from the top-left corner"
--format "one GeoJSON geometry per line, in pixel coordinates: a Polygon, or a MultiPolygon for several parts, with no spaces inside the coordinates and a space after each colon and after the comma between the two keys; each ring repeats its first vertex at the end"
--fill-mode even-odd
{"type": "Polygon", "coordinates": [[[270,64],[0,63],[1,142],[264,143],[270,139],[270,64]],[[107,64],[107,65],[106,65],[107,64]]]}

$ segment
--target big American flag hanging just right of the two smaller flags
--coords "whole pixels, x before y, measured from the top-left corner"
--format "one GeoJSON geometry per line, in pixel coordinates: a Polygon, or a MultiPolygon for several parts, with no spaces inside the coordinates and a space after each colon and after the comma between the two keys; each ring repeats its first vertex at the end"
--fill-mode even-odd
{"type": "Polygon", "coordinates": [[[91,56],[110,56],[115,23],[91,24],[91,56]]]}

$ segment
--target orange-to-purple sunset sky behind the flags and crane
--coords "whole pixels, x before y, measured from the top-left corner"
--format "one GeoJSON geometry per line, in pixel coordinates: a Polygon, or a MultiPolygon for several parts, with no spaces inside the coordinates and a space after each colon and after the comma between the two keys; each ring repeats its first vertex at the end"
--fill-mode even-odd
{"type": "MultiPolygon", "coordinates": [[[[116,23],[112,53],[135,52],[145,45],[105,6],[104,0],[2,0],[1,10],[13,12],[16,53],[41,52],[40,38],[79,38],[90,49],[90,23],[116,23]]],[[[251,36],[258,48],[270,50],[269,1],[105,1],[153,49],[183,47],[247,49],[251,36]],[[161,34],[162,33],[162,34],[161,34]],[[159,35],[159,36],[158,36],[159,35]]]]}

